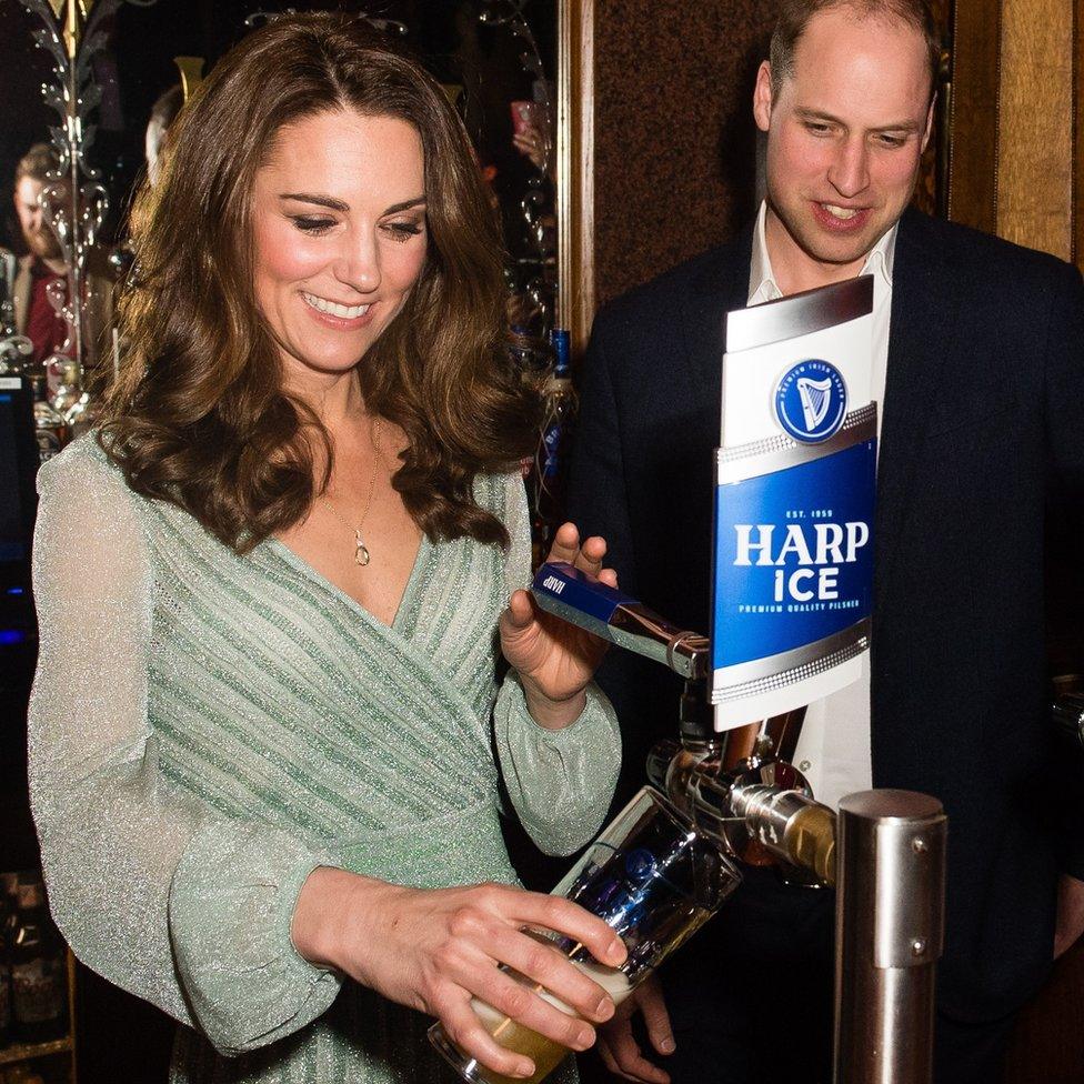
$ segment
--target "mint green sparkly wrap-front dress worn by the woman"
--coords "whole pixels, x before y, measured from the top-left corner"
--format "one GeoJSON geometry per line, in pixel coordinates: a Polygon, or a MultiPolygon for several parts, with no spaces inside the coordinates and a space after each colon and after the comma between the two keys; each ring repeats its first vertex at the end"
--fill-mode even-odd
{"type": "Polygon", "coordinates": [[[529,576],[521,480],[475,484],[510,551],[423,540],[390,628],[278,541],[238,556],[134,494],[91,439],[39,490],[30,777],[72,950],[181,1022],[177,1084],[446,1081],[431,1021],[303,960],[290,920],[318,865],[514,882],[499,775],[543,850],[600,827],[604,697],[551,733],[494,683],[529,576]]]}

